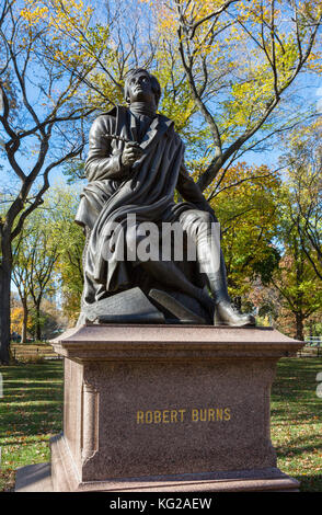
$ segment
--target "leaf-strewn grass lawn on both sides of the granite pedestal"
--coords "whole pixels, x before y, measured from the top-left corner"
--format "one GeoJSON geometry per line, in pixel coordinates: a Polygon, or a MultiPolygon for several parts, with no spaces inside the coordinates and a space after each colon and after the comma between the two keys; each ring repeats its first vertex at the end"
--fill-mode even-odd
{"type": "MultiPolygon", "coordinates": [[[[278,467],[322,491],[322,399],[315,394],[321,358],[278,364],[272,391],[272,440],[278,467]]],[[[62,362],[2,367],[0,399],[0,491],[14,487],[18,467],[49,460],[49,437],[61,431],[62,362]]]]}

